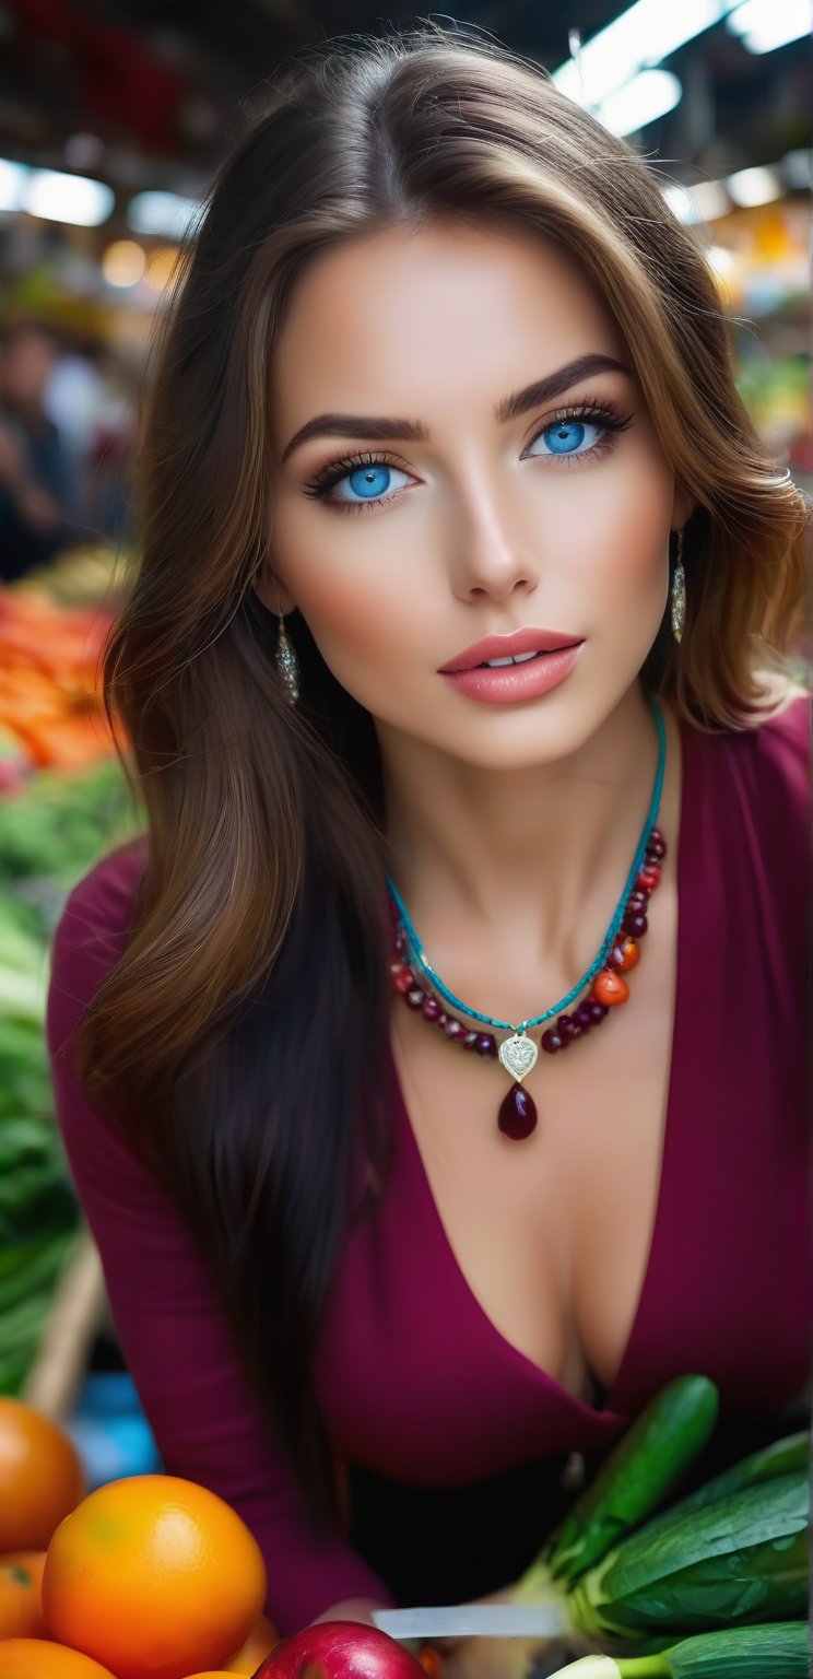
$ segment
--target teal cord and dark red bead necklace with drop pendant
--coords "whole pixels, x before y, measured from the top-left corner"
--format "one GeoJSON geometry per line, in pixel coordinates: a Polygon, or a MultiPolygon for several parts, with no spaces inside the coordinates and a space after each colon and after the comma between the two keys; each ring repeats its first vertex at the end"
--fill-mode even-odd
{"type": "Polygon", "coordinates": [[[527,1033],[553,1021],[554,1024],[543,1033],[541,1048],[546,1054],[556,1054],[559,1049],[568,1049],[576,1038],[600,1026],[610,1009],[627,1002],[630,996],[630,987],[623,975],[630,974],[640,959],[640,940],[645,937],[648,927],[647,905],[660,881],[660,870],[667,855],[667,841],[660,828],[655,826],[667,762],[667,735],[664,717],[653,698],[650,698],[650,707],[658,730],[658,767],[632,868],[595,962],[590,964],[573,989],[564,997],[559,997],[551,1009],[536,1014],[532,1019],[516,1023],[497,1021],[490,1014],[470,1009],[467,1002],[443,984],[432,967],[398,887],[390,875],[386,876],[395,932],[395,960],[390,964],[391,982],[406,1007],[420,1009],[423,1019],[437,1026],[447,1038],[462,1044],[464,1049],[474,1049],[484,1059],[497,1058],[501,1061],[514,1083],[507,1096],[501,1101],[497,1125],[502,1135],[511,1137],[514,1142],[531,1137],[538,1122],[536,1103],[531,1093],[522,1090],[522,1080],[527,1078],[539,1058],[539,1049],[527,1033]],[[586,996],[578,1002],[576,1009],[571,1014],[566,1012],[585,991],[586,996]],[[477,1021],[480,1029],[465,1028],[443,1004],[448,1004],[457,1014],[465,1014],[467,1019],[477,1021]],[[484,1026],[490,1026],[492,1031],[482,1031],[484,1026]],[[506,1033],[509,1036],[497,1044],[494,1033],[506,1033]]]}

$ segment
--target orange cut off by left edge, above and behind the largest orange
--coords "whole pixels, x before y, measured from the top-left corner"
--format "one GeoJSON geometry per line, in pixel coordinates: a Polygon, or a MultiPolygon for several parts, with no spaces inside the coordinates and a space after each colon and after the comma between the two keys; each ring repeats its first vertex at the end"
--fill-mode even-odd
{"type": "Polygon", "coordinates": [[[0,1397],[0,1551],[40,1551],[84,1496],[74,1442],[18,1399],[0,1397]]]}

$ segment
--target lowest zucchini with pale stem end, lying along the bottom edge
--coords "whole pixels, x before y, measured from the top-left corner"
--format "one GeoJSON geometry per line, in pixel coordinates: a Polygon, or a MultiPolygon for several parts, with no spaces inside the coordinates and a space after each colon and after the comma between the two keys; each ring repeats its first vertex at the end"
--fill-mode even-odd
{"type": "Polygon", "coordinates": [[[786,1620],[702,1632],[658,1655],[583,1655],[554,1679],[806,1679],[808,1654],[808,1624],[786,1620]]]}

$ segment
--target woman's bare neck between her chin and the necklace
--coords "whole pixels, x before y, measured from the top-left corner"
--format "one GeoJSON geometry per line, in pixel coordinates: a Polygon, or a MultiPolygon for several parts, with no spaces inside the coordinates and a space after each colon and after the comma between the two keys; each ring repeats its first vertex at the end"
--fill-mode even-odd
{"type": "Polygon", "coordinates": [[[388,729],[380,740],[390,870],[437,970],[482,970],[487,952],[496,979],[511,964],[521,986],[541,969],[573,984],[652,799],[658,737],[642,688],[578,752],[522,771],[450,761],[388,729]]]}

